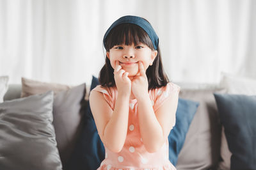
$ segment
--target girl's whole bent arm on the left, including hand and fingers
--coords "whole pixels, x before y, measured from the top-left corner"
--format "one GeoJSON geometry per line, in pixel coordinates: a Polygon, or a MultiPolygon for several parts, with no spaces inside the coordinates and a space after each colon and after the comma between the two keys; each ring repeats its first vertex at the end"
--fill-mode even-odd
{"type": "Polygon", "coordinates": [[[128,78],[129,73],[122,69],[119,61],[115,63],[114,78],[118,95],[114,111],[98,91],[91,93],[90,106],[102,143],[109,150],[119,152],[127,135],[131,81],[128,78]]]}

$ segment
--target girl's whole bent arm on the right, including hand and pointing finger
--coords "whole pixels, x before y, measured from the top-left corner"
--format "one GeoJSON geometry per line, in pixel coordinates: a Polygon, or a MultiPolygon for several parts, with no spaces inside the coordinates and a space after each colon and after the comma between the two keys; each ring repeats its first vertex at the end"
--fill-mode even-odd
{"type": "Polygon", "coordinates": [[[177,109],[179,93],[172,93],[154,112],[148,95],[148,81],[142,62],[139,63],[140,75],[132,81],[132,93],[138,100],[138,117],[140,134],[148,152],[156,152],[163,146],[173,122],[177,109]]]}

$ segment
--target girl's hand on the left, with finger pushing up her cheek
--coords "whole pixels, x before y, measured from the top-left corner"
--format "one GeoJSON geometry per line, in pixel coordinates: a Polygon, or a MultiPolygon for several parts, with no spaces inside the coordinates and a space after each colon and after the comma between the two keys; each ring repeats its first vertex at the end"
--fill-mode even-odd
{"type": "Polygon", "coordinates": [[[114,78],[116,82],[116,88],[121,95],[131,95],[131,80],[128,77],[129,72],[125,72],[120,66],[119,61],[116,61],[114,78]]]}

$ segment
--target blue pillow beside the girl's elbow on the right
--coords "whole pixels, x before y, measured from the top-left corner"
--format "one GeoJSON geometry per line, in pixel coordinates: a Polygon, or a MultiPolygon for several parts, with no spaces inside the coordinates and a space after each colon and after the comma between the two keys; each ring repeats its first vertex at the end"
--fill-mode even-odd
{"type": "Polygon", "coordinates": [[[177,164],[180,150],[182,149],[189,125],[194,118],[198,105],[198,102],[179,98],[176,123],[168,136],[169,160],[172,162],[173,166],[177,164]]]}

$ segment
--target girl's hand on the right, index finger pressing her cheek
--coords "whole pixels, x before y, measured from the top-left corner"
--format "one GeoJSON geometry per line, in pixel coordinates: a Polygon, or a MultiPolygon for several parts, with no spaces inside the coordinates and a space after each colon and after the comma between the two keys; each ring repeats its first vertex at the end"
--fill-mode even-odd
{"type": "Polygon", "coordinates": [[[137,100],[148,95],[148,79],[142,61],[139,61],[139,73],[132,79],[132,93],[137,100]]]}

